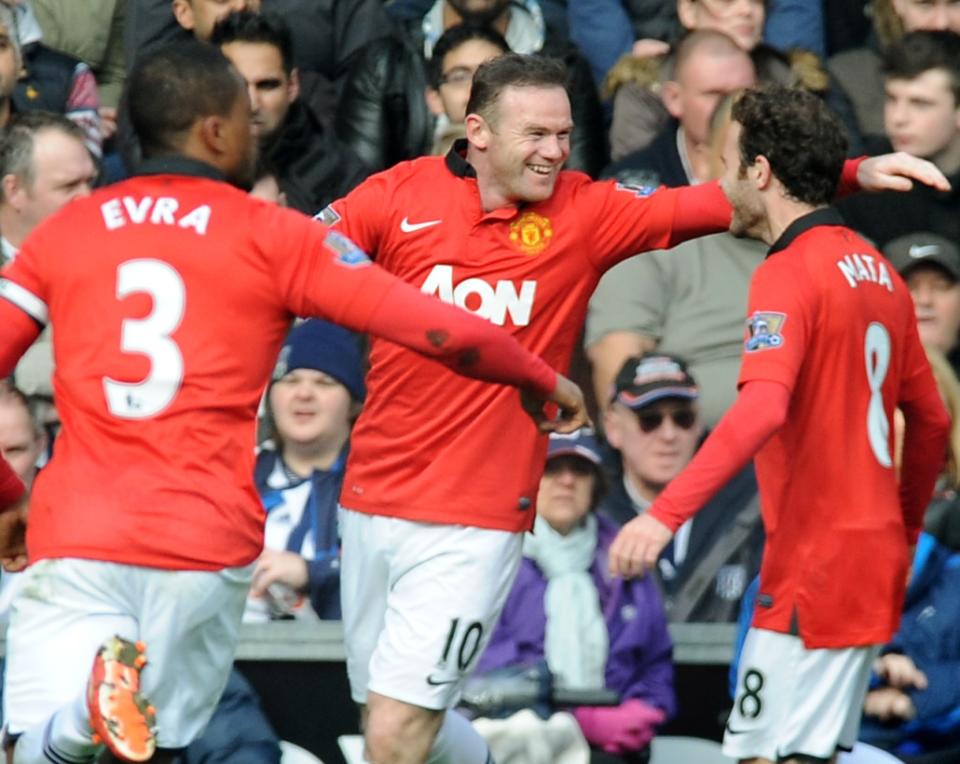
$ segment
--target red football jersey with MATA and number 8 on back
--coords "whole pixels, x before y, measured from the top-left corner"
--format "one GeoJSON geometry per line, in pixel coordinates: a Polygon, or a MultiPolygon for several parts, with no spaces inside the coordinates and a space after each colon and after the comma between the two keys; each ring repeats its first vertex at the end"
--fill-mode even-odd
{"type": "Polygon", "coordinates": [[[756,457],[767,533],[754,625],[807,647],[886,642],[907,573],[893,412],[935,382],[913,302],[832,210],[796,221],[754,273],[740,383],[791,391],[756,457]]]}

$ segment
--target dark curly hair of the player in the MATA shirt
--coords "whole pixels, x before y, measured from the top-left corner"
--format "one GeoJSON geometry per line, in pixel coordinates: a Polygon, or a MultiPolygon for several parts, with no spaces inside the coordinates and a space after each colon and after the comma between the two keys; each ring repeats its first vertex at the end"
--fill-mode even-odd
{"type": "Polygon", "coordinates": [[[747,90],[733,105],[733,119],[743,126],[742,165],[762,155],[791,198],[812,205],[833,200],[847,137],[820,98],[782,85],[747,90]]]}

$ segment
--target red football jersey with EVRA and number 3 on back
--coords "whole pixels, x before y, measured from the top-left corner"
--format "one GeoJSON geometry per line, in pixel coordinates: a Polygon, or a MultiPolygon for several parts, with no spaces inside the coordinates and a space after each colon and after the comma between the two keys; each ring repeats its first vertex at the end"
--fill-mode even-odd
{"type": "Polygon", "coordinates": [[[33,489],[31,560],[253,560],[255,413],[292,317],[364,330],[392,287],[370,282],[379,269],[341,234],[211,168],[165,166],[195,176],[145,175],[71,203],[0,281],[4,310],[54,327],[63,428],[33,489]]]}

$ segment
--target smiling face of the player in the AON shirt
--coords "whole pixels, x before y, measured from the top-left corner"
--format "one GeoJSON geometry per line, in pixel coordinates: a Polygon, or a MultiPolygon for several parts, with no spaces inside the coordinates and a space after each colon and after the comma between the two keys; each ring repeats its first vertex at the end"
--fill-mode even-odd
{"type": "Polygon", "coordinates": [[[467,116],[468,159],[484,208],[549,199],[570,156],[573,118],[562,87],[507,87],[489,118],[467,116]]]}

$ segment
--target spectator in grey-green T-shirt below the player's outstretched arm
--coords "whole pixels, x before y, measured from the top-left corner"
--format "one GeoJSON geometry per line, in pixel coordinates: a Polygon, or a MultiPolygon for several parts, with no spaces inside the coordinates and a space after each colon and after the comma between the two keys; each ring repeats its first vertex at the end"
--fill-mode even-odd
{"type": "MultiPolygon", "coordinates": [[[[720,174],[733,100],[723,97],[710,120],[709,178],[720,174]]],[[[661,180],[686,182],[677,176],[661,180]]],[[[629,258],[604,274],[590,299],[584,335],[600,407],[610,402],[624,361],[656,348],[687,361],[700,381],[703,423],[715,425],[736,396],[747,289],[766,252],[753,239],[714,234],[629,258]]]]}

